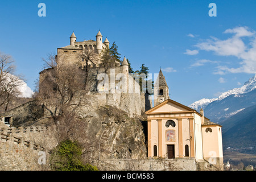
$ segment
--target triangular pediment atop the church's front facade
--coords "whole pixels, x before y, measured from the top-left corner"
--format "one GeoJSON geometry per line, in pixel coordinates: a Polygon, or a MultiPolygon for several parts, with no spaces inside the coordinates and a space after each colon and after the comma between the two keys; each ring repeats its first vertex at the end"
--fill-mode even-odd
{"type": "Polygon", "coordinates": [[[154,113],[171,113],[171,112],[182,112],[182,111],[195,111],[190,107],[187,107],[179,102],[173,100],[166,100],[161,104],[152,107],[152,109],[146,111],[146,114],[154,114],[154,113]]]}

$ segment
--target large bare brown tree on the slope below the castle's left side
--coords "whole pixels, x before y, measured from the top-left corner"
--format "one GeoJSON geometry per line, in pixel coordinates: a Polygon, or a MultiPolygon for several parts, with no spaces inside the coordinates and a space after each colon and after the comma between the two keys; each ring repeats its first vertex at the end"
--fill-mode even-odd
{"type": "Polygon", "coordinates": [[[49,68],[40,82],[38,100],[56,123],[64,113],[76,115],[85,104],[85,72],[53,55],[44,61],[49,68]]]}

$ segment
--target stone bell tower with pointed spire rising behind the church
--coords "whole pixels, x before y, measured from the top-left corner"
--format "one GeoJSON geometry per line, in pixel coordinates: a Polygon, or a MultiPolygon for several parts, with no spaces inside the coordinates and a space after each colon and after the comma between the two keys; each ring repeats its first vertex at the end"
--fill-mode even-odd
{"type": "Polygon", "coordinates": [[[163,72],[160,69],[154,86],[154,106],[159,105],[163,101],[166,101],[168,98],[170,98],[169,88],[166,83],[166,78],[163,76],[163,72]]]}

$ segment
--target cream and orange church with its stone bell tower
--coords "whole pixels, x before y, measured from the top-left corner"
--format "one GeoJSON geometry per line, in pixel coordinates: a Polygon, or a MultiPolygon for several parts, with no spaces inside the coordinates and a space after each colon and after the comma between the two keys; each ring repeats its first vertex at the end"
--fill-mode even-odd
{"type": "Polygon", "coordinates": [[[160,70],[154,88],[154,107],[146,111],[149,158],[195,158],[204,167],[223,170],[221,125],[169,97],[160,70]],[[209,166],[208,166],[209,165],[209,166]]]}

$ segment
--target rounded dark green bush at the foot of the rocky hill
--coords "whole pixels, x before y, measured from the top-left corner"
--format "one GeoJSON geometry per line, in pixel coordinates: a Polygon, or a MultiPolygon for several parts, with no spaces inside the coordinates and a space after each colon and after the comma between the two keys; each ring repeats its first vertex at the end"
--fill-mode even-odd
{"type": "Polygon", "coordinates": [[[56,171],[97,171],[96,166],[82,163],[79,143],[65,140],[51,154],[51,168],[56,171]]]}

